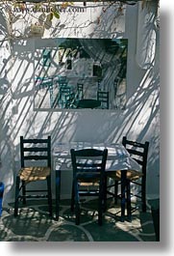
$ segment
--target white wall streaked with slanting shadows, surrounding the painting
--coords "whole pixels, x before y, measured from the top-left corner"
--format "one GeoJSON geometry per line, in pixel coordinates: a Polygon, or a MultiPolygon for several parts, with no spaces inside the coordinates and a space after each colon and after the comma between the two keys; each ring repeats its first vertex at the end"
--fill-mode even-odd
{"type": "MultiPolygon", "coordinates": [[[[147,195],[149,197],[159,195],[159,31],[155,30],[157,35],[156,59],[147,70],[143,70],[137,65],[137,16],[138,6],[129,6],[125,15],[125,31],[114,34],[112,30],[108,29],[108,34],[105,32],[103,36],[101,33],[102,37],[110,37],[111,33],[116,37],[123,36],[129,40],[127,106],[122,111],[34,111],[34,50],[37,39],[13,41],[12,65],[8,60],[10,65],[8,81],[10,84],[6,91],[0,91],[2,109],[0,180],[6,185],[5,199],[14,196],[14,177],[20,166],[19,136],[44,137],[48,134],[51,134],[53,142],[56,140],[121,142],[123,135],[141,142],[148,140],[150,148],[147,166],[147,195]]],[[[0,26],[1,31],[2,26],[6,26],[1,14],[0,24],[2,24],[0,26]]],[[[96,34],[99,33],[97,25],[93,25],[92,29],[94,31],[92,35],[95,37],[95,32],[96,34]]],[[[78,31],[77,27],[76,30],[78,31]]],[[[103,28],[101,32],[104,30],[103,28]]],[[[81,32],[82,29],[78,35],[81,35],[81,32]]],[[[74,30],[72,29],[73,33],[74,30]]],[[[2,87],[3,84],[3,82],[0,83],[0,86],[2,87]]],[[[69,174],[62,175],[62,194],[70,192],[70,189],[67,189],[71,185],[68,176],[69,174]]],[[[53,175],[53,185],[54,178],[53,175]]]]}

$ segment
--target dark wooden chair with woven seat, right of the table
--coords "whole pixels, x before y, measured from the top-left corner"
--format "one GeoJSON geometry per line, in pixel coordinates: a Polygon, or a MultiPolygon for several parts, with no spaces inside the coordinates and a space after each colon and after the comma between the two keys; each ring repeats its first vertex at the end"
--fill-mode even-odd
{"type": "MultiPolygon", "coordinates": [[[[130,156],[137,161],[141,166],[141,172],[128,170],[126,173],[126,187],[127,190],[127,201],[128,201],[128,215],[131,218],[131,197],[135,196],[140,199],[142,205],[142,212],[146,212],[146,166],[147,166],[147,156],[149,142],[146,141],[144,144],[137,141],[128,140],[126,136],[122,139],[122,144],[129,152],[130,156]],[[131,184],[137,185],[137,193],[132,192],[131,184]]],[[[118,194],[118,185],[121,185],[121,171],[116,171],[115,173],[108,176],[114,180],[113,185],[107,185],[107,194],[114,197],[115,204],[117,203],[117,198],[123,195],[118,194]],[[114,191],[111,191],[112,186],[114,186],[114,191]]]]}

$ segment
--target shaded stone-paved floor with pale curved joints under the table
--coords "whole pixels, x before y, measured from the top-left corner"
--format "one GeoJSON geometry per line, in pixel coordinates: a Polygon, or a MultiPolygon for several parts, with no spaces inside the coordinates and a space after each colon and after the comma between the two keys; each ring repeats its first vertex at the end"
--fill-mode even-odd
{"type": "Polygon", "coordinates": [[[3,209],[0,218],[1,242],[156,242],[150,208],[138,209],[132,222],[121,222],[119,207],[110,204],[102,226],[97,223],[96,201],[84,201],[81,224],[75,225],[70,201],[61,201],[59,221],[48,216],[46,201],[28,201],[13,217],[13,204],[3,209]],[[92,206],[92,211],[90,207],[92,206]]]}

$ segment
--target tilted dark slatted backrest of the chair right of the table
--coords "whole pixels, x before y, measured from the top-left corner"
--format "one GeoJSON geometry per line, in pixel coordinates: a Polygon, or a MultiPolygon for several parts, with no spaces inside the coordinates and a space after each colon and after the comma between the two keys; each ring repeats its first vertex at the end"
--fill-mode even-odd
{"type": "Polygon", "coordinates": [[[142,166],[143,177],[146,177],[146,166],[149,142],[146,141],[144,144],[137,141],[128,140],[126,136],[122,139],[122,144],[129,152],[130,156],[134,158],[139,165],[142,166]]]}

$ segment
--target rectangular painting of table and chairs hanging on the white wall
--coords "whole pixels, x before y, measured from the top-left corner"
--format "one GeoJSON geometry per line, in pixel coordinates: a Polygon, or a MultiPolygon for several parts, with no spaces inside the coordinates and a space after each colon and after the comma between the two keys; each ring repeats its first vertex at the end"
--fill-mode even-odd
{"type": "Polygon", "coordinates": [[[43,41],[35,49],[36,109],[124,109],[126,39],[43,41]]]}

